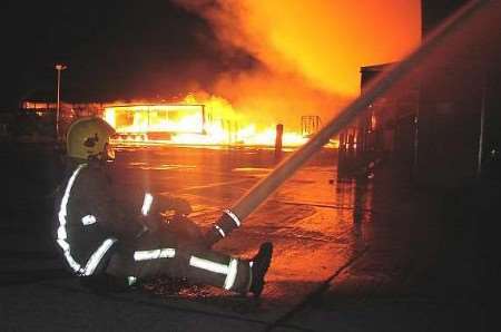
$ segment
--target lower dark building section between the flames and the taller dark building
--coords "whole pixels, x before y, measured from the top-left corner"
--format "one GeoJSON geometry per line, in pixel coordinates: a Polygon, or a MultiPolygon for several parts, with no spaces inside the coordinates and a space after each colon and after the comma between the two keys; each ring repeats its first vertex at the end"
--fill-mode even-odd
{"type": "MultiPolygon", "coordinates": [[[[393,64],[361,68],[361,90],[393,64]]],[[[419,85],[406,84],[397,94],[377,98],[340,135],[340,170],[343,175],[363,175],[367,165],[392,159],[412,168],[415,155],[419,85]]]]}

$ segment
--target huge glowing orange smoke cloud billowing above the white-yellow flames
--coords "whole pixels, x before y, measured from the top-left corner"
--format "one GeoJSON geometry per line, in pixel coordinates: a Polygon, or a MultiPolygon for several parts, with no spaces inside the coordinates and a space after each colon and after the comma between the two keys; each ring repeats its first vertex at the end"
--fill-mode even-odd
{"type": "Polygon", "coordinates": [[[219,78],[214,94],[253,118],[324,120],[360,92],[360,67],[396,61],[420,41],[420,0],[177,0],[206,18],[223,48],[259,69],[219,78]]]}

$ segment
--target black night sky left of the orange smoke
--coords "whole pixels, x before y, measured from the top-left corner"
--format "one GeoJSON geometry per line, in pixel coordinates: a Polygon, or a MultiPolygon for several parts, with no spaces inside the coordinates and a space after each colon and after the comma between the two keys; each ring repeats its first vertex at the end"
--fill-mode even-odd
{"type": "Polygon", "coordinates": [[[2,109],[56,98],[58,61],[68,101],[168,99],[255,65],[222,52],[205,20],[167,0],[9,1],[2,11],[2,109]]]}

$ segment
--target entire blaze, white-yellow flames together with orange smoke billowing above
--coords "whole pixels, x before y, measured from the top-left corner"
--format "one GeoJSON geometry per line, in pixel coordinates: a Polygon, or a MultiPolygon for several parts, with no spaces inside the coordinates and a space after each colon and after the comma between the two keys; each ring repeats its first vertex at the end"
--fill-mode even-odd
{"type": "Polygon", "coordinates": [[[175,2],[205,19],[207,42],[238,66],[204,87],[224,98],[130,106],[125,125],[124,108],[107,108],[121,141],[274,146],[283,124],[282,145],[301,146],[320,129],[304,130],[303,118],[330,119],[358,94],[361,66],[397,61],[420,41],[419,0],[175,2]]]}

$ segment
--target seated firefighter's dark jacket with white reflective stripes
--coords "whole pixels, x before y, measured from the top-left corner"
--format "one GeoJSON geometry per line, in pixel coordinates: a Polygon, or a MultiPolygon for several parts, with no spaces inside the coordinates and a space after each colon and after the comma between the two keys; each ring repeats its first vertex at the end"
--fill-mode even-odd
{"type": "MultiPolygon", "coordinates": [[[[149,195],[149,194],[148,194],[149,195]]],[[[57,243],[79,275],[102,271],[119,242],[131,242],[146,231],[147,196],[116,188],[98,162],[75,163],[56,199],[57,243]],[[124,198],[127,197],[127,198],[124,198]]],[[[156,209],[165,208],[161,201],[156,209]]]]}

